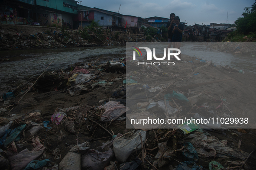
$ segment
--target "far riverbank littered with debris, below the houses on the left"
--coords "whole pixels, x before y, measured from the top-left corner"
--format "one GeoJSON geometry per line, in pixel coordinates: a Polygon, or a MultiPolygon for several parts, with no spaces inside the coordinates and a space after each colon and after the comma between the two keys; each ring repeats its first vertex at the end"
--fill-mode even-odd
{"type": "MultiPolygon", "coordinates": [[[[80,29],[58,29],[46,26],[0,25],[0,50],[44,49],[125,45],[127,41],[152,41],[143,34],[130,35],[129,32],[109,32],[101,30],[94,33],[86,30],[82,35],[80,29]],[[82,37],[87,37],[82,38],[82,37]],[[100,38],[99,38],[100,37],[100,38]],[[89,39],[88,39],[89,38],[89,39]]],[[[84,30],[83,30],[84,32],[84,30]]]]}

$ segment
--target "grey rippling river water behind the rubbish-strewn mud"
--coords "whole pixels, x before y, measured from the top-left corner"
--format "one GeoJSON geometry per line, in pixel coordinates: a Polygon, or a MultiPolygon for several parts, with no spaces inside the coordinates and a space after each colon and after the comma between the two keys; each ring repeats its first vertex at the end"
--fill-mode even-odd
{"type": "MultiPolygon", "coordinates": [[[[206,46],[196,43],[183,45],[181,54],[191,57],[198,57],[206,61],[213,61],[218,65],[230,65],[247,72],[256,73],[256,58],[244,55],[234,55],[212,50],[206,46]]],[[[35,76],[38,77],[45,68],[49,66],[48,71],[57,71],[64,69],[73,63],[90,61],[104,55],[105,59],[124,58],[126,56],[126,47],[84,47],[84,48],[53,48],[53,49],[35,49],[19,51],[1,51],[0,58],[8,57],[11,61],[0,63],[0,95],[7,92],[12,86],[26,82],[26,80],[35,76]]]]}

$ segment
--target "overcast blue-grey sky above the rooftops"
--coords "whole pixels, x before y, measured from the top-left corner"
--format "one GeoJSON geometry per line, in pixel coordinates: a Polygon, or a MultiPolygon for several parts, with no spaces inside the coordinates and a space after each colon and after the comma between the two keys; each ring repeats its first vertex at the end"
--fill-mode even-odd
{"type": "Polygon", "coordinates": [[[234,24],[241,17],[243,9],[251,7],[254,2],[255,0],[82,0],[81,5],[113,12],[118,12],[120,7],[120,14],[143,18],[169,18],[171,13],[175,13],[181,22],[192,26],[194,23],[234,24]]]}

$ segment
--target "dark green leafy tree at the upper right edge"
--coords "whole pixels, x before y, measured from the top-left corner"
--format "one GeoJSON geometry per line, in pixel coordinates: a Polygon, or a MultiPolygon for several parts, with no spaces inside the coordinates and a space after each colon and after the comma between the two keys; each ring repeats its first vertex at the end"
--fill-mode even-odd
{"type": "Polygon", "coordinates": [[[235,21],[238,34],[249,34],[250,32],[256,32],[256,2],[252,7],[245,7],[243,17],[238,18],[235,21]]]}

